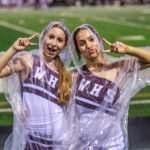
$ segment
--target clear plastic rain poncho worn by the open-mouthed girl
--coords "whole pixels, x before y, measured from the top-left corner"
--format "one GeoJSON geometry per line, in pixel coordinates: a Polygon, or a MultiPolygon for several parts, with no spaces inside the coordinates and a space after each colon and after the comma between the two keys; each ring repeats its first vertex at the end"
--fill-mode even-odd
{"type": "MultiPolygon", "coordinates": [[[[65,31],[69,42],[67,27],[60,22],[50,23],[41,33],[38,51],[18,53],[10,62],[13,64],[21,58],[24,58],[22,61],[28,61],[31,66],[28,76],[21,80],[21,75],[14,73],[2,80],[3,90],[14,113],[13,132],[5,143],[5,150],[66,149],[65,142],[71,135],[70,123],[66,106],[58,103],[58,74],[43,61],[47,59],[43,58],[44,40],[48,31],[56,24],[65,31]]],[[[70,57],[66,52],[68,42],[60,54],[66,66],[70,64],[70,57]]]]}

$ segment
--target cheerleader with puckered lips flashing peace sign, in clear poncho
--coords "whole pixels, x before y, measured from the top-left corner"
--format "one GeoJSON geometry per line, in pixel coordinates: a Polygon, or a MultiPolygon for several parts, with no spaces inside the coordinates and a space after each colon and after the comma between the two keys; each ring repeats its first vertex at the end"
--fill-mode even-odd
{"type": "Polygon", "coordinates": [[[100,36],[87,24],[74,30],[72,40],[80,129],[74,149],[127,150],[129,100],[148,84],[150,52],[105,39],[110,50],[104,51],[100,36]],[[105,54],[111,52],[134,57],[113,58],[105,54]]]}

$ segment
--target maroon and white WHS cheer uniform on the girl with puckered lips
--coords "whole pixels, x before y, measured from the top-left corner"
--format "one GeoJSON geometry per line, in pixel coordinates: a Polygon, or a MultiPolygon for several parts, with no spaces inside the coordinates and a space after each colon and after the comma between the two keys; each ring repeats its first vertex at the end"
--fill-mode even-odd
{"type": "Polygon", "coordinates": [[[97,130],[101,130],[101,133],[104,130],[105,135],[107,135],[107,140],[103,142],[104,139],[97,136],[96,138],[101,143],[99,145],[102,145],[102,147],[96,147],[94,150],[124,149],[124,138],[120,124],[115,124],[112,133],[109,131],[113,128],[113,125],[109,126],[109,123],[111,119],[113,120],[120,108],[120,104],[117,103],[119,96],[120,90],[115,83],[93,75],[85,65],[81,67],[81,74],[77,78],[76,106],[79,113],[83,144],[84,141],[90,140],[88,137],[93,138],[96,132],[98,132],[97,130]],[[99,113],[99,117],[94,117],[95,112],[99,113]],[[99,119],[99,121],[94,119],[99,119]],[[100,129],[98,129],[99,126],[101,126],[100,129]]]}

